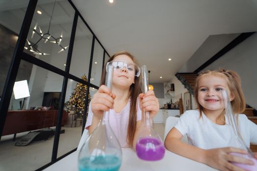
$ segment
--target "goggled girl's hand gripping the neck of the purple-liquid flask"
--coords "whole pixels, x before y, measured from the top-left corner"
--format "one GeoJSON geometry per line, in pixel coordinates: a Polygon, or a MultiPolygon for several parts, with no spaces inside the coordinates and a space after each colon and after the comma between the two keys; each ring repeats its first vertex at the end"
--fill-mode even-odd
{"type": "Polygon", "coordinates": [[[149,111],[151,117],[154,117],[159,111],[159,102],[154,95],[153,90],[147,91],[145,94],[139,94],[140,109],[149,111]]]}

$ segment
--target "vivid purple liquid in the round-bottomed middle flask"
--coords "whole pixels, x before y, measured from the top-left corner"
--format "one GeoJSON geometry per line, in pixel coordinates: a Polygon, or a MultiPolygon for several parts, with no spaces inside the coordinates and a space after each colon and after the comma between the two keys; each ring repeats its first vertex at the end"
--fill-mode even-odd
{"type": "Polygon", "coordinates": [[[153,137],[142,138],[136,143],[136,154],[142,160],[155,161],[164,157],[162,142],[153,137]]]}

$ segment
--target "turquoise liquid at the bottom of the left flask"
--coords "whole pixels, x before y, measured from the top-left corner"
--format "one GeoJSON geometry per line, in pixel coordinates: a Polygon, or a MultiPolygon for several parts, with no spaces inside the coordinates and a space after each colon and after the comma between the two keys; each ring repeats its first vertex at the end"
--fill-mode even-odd
{"type": "Polygon", "coordinates": [[[84,157],[78,161],[79,171],[119,171],[121,160],[115,155],[84,157]]]}

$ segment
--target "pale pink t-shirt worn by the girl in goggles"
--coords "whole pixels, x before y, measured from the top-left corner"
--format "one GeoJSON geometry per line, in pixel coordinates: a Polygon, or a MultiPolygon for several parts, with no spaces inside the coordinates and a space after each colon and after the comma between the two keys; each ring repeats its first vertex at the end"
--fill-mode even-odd
{"type": "MultiPolygon", "coordinates": [[[[128,130],[128,120],[130,111],[130,99],[127,105],[122,109],[120,113],[116,113],[114,109],[109,110],[109,123],[114,134],[116,135],[121,147],[128,147],[127,145],[127,130],[128,130]]],[[[140,121],[142,117],[142,112],[137,101],[137,113],[136,121],[140,121]]],[[[104,121],[106,121],[108,115],[105,115],[104,121]]],[[[85,128],[88,129],[92,124],[93,112],[91,110],[91,102],[89,104],[88,116],[85,128]]]]}

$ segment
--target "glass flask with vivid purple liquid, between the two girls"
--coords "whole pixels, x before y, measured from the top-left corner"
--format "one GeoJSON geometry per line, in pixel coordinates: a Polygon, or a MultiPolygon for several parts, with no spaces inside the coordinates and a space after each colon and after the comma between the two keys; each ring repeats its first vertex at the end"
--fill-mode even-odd
{"type": "MultiPolygon", "coordinates": [[[[143,92],[149,89],[147,79],[147,66],[142,66],[143,92]]],[[[159,135],[154,131],[153,120],[148,111],[144,111],[142,118],[144,128],[140,132],[136,143],[136,154],[142,160],[156,161],[164,157],[165,148],[159,135]]]]}

